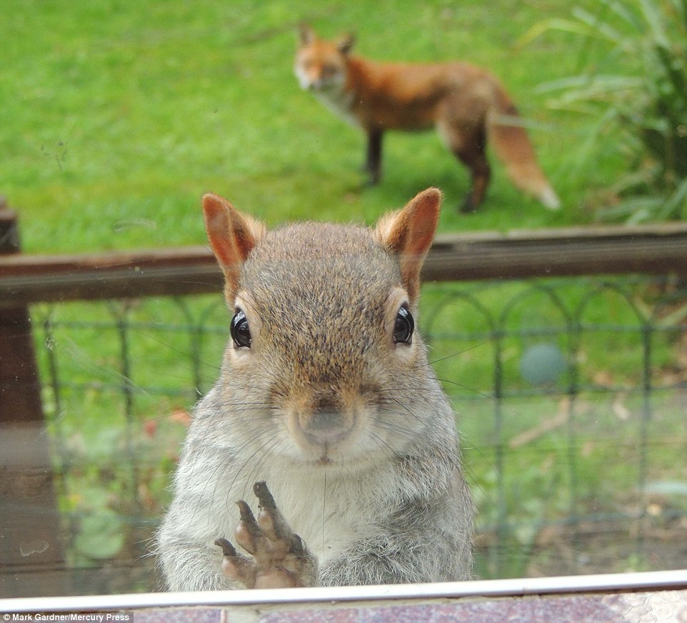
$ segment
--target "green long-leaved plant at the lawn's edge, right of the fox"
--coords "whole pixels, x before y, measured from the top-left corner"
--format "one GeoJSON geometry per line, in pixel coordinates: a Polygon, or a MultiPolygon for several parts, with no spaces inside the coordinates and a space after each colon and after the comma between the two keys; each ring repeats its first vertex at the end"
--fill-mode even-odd
{"type": "Polygon", "coordinates": [[[618,202],[600,216],[635,223],[686,218],[687,1],[601,0],[596,13],[578,6],[572,15],[539,22],[521,43],[548,30],[583,38],[582,73],[541,90],[557,93],[553,106],[597,117],[584,155],[602,133],[614,133],[631,159],[631,170],[611,189],[618,202]],[[606,54],[589,61],[596,45],[606,54]]]}

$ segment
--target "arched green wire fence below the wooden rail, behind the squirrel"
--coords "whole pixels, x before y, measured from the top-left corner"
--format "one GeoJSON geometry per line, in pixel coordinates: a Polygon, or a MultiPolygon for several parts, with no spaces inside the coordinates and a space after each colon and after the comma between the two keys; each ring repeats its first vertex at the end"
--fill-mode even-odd
{"type": "MultiPolygon", "coordinates": [[[[686,319],[670,279],[424,287],[479,576],[687,567],[686,319]]],[[[32,320],[74,592],[157,589],[150,539],[218,374],[224,302],[39,304],[32,320]]]]}

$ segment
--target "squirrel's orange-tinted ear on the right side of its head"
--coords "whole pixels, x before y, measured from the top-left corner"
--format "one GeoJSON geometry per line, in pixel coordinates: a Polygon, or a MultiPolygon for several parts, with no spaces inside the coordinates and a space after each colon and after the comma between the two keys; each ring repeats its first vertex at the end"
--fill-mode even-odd
{"type": "Polygon", "coordinates": [[[420,289],[420,269],[434,239],[440,206],[441,191],[428,188],[377,223],[376,238],[398,258],[403,287],[411,301],[420,289]]]}

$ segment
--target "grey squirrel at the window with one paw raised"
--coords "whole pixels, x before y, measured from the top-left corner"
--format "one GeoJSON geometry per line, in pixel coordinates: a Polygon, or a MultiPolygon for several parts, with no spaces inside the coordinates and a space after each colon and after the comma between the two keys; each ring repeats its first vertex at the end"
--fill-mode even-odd
{"type": "Polygon", "coordinates": [[[233,317],[156,536],[167,589],[470,579],[455,418],[414,322],[441,191],[373,228],[202,204],[233,317]]]}

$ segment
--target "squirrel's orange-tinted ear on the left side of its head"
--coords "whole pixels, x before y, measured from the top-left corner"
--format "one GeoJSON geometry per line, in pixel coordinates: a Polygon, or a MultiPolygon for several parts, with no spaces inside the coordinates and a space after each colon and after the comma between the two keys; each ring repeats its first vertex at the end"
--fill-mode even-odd
{"type": "Polygon", "coordinates": [[[232,306],[239,288],[241,264],[264,236],[265,227],[211,193],[203,197],[203,216],[210,246],[224,272],[224,297],[232,306]]]}

